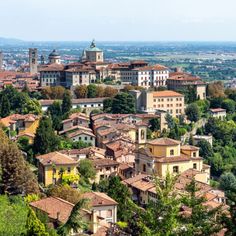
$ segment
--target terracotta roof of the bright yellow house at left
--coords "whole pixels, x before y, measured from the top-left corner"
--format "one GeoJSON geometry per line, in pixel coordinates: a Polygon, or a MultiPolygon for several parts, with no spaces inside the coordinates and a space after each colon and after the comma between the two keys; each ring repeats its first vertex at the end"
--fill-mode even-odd
{"type": "Polygon", "coordinates": [[[78,162],[75,161],[73,158],[71,158],[65,154],[62,154],[60,152],[50,152],[48,154],[37,156],[36,158],[44,166],[52,165],[52,164],[56,164],[56,165],[76,165],[76,164],[78,164],[78,162]]]}

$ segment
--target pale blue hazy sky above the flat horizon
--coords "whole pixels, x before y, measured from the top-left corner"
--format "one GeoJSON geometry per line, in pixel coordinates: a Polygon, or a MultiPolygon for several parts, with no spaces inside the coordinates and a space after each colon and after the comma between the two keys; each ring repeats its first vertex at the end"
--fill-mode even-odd
{"type": "Polygon", "coordinates": [[[0,0],[0,37],[236,41],[236,0],[0,0]]]}

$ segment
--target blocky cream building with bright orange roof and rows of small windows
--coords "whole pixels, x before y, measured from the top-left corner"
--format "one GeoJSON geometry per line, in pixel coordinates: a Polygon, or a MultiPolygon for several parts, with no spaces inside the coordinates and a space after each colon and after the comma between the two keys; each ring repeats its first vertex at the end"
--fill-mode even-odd
{"type": "Polygon", "coordinates": [[[168,112],[173,117],[185,114],[184,95],[175,91],[131,91],[135,96],[137,110],[155,113],[157,110],[168,112]]]}

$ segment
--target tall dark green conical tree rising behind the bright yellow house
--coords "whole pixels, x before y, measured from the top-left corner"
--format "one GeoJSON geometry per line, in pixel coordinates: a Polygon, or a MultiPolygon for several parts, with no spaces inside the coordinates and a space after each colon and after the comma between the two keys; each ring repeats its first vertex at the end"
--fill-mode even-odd
{"type": "Polygon", "coordinates": [[[46,154],[59,148],[59,138],[56,136],[49,117],[42,117],[36,130],[33,150],[35,154],[46,154]]]}

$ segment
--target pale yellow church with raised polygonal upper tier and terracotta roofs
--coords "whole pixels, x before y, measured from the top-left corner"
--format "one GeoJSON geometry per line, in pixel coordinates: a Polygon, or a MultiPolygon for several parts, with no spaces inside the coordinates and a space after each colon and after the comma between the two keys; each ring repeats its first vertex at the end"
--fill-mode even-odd
{"type": "Polygon", "coordinates": [[[194,146],[180,146],[180,142],[160,138],[149,141],[146,147],[136,151],[136,173],[157,174],[165,177],[166,173],[180,174],[189,169],[202,172],[199,181],[209,183],[210,167],[203,165],[199,156],[199,148],[194,146]]]}

